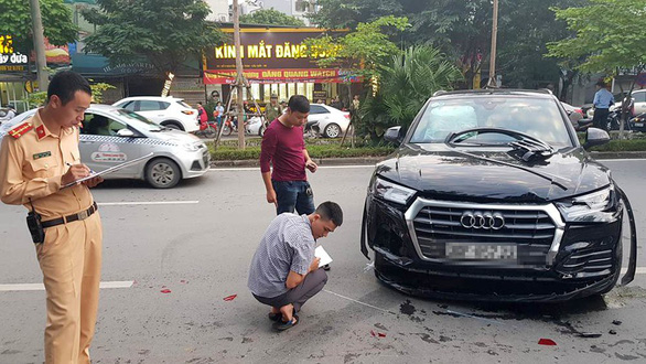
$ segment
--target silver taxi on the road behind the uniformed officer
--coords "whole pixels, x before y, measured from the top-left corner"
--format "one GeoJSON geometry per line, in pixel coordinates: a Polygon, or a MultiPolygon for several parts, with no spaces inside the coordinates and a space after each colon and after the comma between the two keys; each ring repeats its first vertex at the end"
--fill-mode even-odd
{"type": "MultiPolygon", "coordinates": [[[[23,113],[0,126],[0,138],[35,111],[23,113]]],[[[181,179],[203,175],[211,162],[208,149],[200,138],[109,105],[91,105],[87,109],[78,149],[83,163],[97,172],[152,152],[148,161],[104,178],[146,180],[157,189],[170,189],[181,179]]]]}

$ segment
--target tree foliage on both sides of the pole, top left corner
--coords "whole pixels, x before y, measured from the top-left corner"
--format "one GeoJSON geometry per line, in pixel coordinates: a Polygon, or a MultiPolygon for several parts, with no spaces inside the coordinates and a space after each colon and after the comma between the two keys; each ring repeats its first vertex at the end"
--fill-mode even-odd
{"type": "MultiPolygon", "coordinates": [[[[29,1],[0,0],[0,34],[13,35],[14,49],[26,53],[33,49],[33,32],[29,1]],[[19,43],[17,43],[19,42],[19,43]]],[[[45,36],[51,44],[74,42],[78,29],[72,22],[72,11],[63,0],[41,0],[45,36]]]]}

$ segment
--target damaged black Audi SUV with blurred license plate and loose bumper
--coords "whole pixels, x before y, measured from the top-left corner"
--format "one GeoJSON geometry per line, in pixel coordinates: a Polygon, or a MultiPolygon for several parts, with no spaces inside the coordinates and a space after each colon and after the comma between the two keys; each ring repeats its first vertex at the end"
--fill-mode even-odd
{"type": "MultiPolygon", "coordinates": [[[[622,267],[627,197],[559,100],[540,90],[439,92],[377,164],[360,249],[406,293],[558,301],[609,292],[622,267]]],[[[634,277],[632,211],[628,272],[634,277]]]]}

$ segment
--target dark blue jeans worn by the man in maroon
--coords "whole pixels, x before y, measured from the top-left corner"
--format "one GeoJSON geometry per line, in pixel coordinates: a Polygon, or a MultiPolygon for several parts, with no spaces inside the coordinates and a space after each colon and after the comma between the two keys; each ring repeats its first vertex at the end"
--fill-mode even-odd
{"type": "Polygon", "coordinates": [[[308,181],[271,181],[271,184],[278,200],[277,215],[286,212],[293,213],[294,208],[299,215],[309,215],[316,210],[314,194],[308,181]]]}

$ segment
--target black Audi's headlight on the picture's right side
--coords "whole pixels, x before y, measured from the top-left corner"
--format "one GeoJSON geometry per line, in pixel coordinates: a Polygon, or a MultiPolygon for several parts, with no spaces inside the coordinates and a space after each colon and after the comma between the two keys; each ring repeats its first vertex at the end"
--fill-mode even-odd
{"type": "Polygon", "coordinates": [[[617,195],[614,186],[557,202],[567,222],[602,223],[615,218],[617,195]]]}

